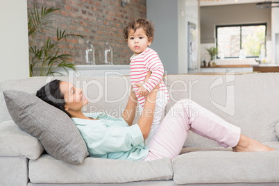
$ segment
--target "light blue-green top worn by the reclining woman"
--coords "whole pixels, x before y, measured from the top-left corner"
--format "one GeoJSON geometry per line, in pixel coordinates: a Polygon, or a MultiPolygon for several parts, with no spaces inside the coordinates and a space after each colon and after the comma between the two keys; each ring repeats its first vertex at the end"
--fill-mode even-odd
{"type": "Polygon", "coordinates": [[[148,146],[144,146],[144,137],[137,124],[129,126],[122,117],[115,118],[102,112],[84,115],[98,120],[71,119],[78,127],[90,157],[143,160],[148,155],[148,146]]]}

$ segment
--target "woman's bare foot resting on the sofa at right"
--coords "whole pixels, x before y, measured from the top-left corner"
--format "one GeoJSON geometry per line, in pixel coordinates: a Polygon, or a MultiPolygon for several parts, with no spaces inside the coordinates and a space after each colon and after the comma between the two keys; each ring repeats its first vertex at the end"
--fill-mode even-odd
{"type": "Polygon", "coordinates": [[[275,151],[267,145],[261,144],[256,140],[245,135],[240,135],[237,146],[233,147],[234,152],[256,152],[256,151],[275,151]]]}

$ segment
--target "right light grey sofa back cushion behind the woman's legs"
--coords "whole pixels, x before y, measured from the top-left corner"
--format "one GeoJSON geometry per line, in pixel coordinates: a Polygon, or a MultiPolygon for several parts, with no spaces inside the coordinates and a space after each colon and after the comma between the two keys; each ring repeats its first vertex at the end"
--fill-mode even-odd
{"type": "MultiPolygon", "coordinates": [[[[279,73],[224,75],[169,75],[165,77],[170,101],[165,112],[180,99],[192,99],[242,134],[260,142],[278,141],[279,73]]],[[[185,146],[212,146],[216,142],[190,133],[185,146]]]]}

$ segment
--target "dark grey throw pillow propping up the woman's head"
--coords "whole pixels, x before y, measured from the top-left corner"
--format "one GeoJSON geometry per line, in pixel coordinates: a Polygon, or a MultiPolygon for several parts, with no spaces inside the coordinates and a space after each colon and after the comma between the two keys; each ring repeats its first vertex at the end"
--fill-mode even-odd
{"type": "Polygon", "coordinates": [[[49,155],[70,164],[81,164],[88,155],[86,144],[71,119],[33,94],[3,91],[15,124],[37,137],[49,155]]]}

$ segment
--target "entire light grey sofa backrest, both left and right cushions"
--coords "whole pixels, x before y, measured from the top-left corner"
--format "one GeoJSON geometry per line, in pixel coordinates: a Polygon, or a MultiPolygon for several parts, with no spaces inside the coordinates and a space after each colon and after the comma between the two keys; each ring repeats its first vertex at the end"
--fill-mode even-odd
{"type": "MultiPolygon", "coordinates": [[[[126,108],[130,79],[126,76],[33,77],[0,83],[0,123],[10,120],[3,90],[21,90],[35,94],[43,85],[58,78],[82,87],[90,103],[83,112],[106,112],[120,117],[126,108]]],[[[226,121],[242,128],[242,133],[260,142],[278,141],[275,125],[279,122],[279,73],[243,75],[168,75],[164,83],[169,90],[165,112],[180,99],[192,99],[226,121]]],[[[24,98],[23,98],[24,99],[24,98]]],[[[134,124],[140,113],[137,112],[134,124]]],[[[189,133],[185,146],[218,146],[189,133]]]]}

